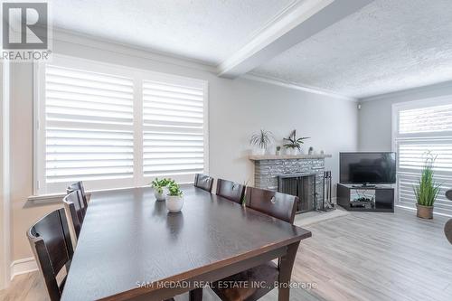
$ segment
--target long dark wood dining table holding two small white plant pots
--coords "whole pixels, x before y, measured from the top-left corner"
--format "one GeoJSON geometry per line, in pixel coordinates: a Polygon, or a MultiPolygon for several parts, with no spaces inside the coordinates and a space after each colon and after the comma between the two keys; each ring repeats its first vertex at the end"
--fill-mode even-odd
{"type": "MultiPolygon", "coordinates": [[[[182,188],[178,213],[151,188],[92,193],[61,299],[161,301],[278,258],[278,281],[290,282],[309,230],[182,188]]],[[[288,301],[289,286],[278,289],[288,301]]]]}

